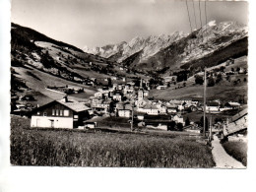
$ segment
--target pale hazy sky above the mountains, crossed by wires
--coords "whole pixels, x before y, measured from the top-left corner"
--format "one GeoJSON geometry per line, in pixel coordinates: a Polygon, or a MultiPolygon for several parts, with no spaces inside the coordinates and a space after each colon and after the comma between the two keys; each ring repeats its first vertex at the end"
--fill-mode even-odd
{"type": "MultiPolygon", "coordinates": [[[[200,24],[199,1],[188,1],[193,29],[200,24]]],[[[202,26],[205,2],[200,2],[202,26]]],[[[248,3],[208,1],[207,21],[247,24],[248,3]]],[[[12,0],[11,21],[79,48],[129,41],[135,36],[190,32],[186,1],[178,0],[12,0]]]]}

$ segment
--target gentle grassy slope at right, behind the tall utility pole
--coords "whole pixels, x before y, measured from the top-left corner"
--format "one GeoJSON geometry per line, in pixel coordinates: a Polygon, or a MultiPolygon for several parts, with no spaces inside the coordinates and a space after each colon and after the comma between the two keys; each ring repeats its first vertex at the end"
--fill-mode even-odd
{"type": "MultiPolygon", "coordinates": [[[[237,71],[237,69],[247,70],[247,56],[234,59],[234,63],[230,65],[226,65],[226,62],[224,62],[217,66],[207,68],[208,73],[212,74],[211,77],[214,76],[213,79],[215,80],[214,86],[207,87],[207,99],[220,99],[222,101],[232,100],[240,102],[240,99],[242,98],[246,103],[248,99],[248,75],[246,73],[222,75],[222,80],[217,82],[218,75],[214,75],[214,73],[220,73],[220,68],[224,68],[224,73],[237,71]]],[[[195,76],[203,76],[203,72],[199,72],[189,77],[187,81],[178,82],[175,85],[171,84],[166,90],[151,90],[150,96],[166,100],[173,98],[194,98],[200,100],[204,96],[204,86],[195,84],[195,76]],[[186,86],[183,86],[184,83],[186,86]]],[[[209,78],[207,78],[208,81],[209,78]]]]}

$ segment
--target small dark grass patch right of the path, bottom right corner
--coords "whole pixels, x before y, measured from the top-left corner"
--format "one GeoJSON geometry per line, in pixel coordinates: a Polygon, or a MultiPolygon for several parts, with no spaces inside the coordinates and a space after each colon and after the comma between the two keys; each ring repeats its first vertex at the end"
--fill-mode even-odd
{"type": "Polygon", "coordinates": [[[225,152],[235,160],[247,166],[247,143],[240,141],[230,141],[223,144],[225,152]]]}

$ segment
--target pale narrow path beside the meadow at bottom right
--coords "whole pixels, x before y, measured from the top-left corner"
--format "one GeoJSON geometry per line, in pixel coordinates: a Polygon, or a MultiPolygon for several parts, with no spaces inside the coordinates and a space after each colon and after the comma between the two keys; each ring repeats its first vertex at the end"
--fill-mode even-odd
{"type": "Polygon", "coordinates": [[[212,154],[216,162],[216,168],[246,168],[241,162],[234,160],[232,157],[226,154],[219,138],[214,135],[212,141],[212,154]]]}

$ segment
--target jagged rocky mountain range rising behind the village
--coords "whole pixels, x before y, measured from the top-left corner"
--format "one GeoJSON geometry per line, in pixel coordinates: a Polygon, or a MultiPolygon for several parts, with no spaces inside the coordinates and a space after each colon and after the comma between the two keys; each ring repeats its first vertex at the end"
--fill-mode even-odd
{"type": "Polygon", "coordinates": [[[168,76],[173,71],[189,69],[196,73],[205,66],[218,65],[227,59],[247,55],[247,28],[236,22],[215,21],[189,34],[173,32],[130,42],[96,47],[96,55],[116,60],[123,66],[141,72],[168,76]]]}

